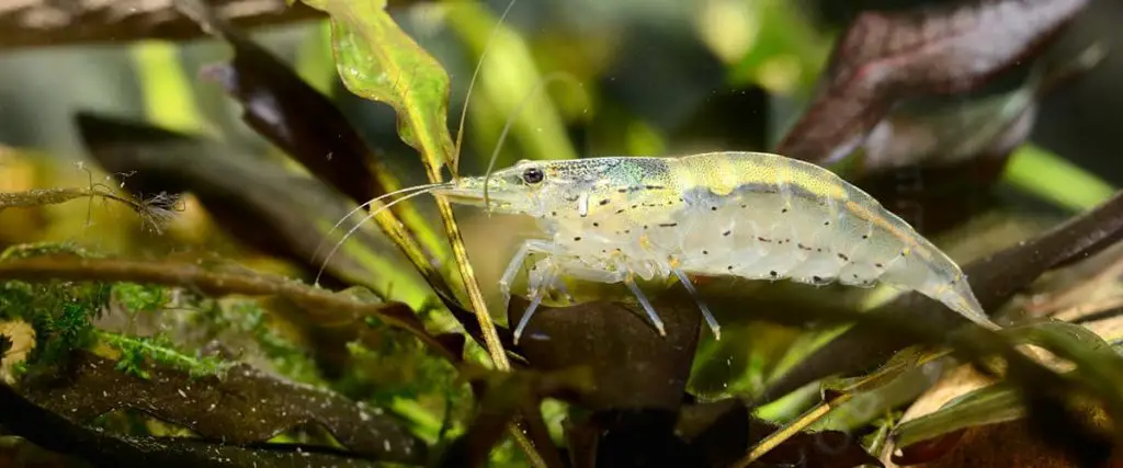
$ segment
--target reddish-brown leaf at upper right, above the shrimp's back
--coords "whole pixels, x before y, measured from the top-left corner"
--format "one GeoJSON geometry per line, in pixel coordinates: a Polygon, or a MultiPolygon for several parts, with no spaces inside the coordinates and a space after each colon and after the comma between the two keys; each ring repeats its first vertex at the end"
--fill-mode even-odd
{"type": "Polygon", "coordinates": [[[955,94],[1029,59],[1087,0],[974,0],[860,13],[777,153],[828,164],[862,144],[904,98],[955,94]]]}

